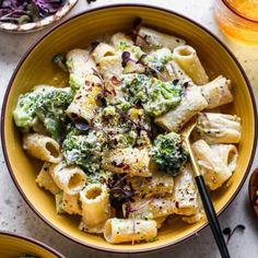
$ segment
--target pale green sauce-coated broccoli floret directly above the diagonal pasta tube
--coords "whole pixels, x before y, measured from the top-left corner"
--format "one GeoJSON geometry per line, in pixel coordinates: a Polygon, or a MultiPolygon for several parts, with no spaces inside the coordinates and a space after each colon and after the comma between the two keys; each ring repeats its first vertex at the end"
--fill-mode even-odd
{"type": "Polygon", "coordinates": [[[148,102],[143,104],[145,113],[156,117],[175,108],[181,101],[183,90],[180,84],[162,82],[153,79],[149,89],[148,102]]]}

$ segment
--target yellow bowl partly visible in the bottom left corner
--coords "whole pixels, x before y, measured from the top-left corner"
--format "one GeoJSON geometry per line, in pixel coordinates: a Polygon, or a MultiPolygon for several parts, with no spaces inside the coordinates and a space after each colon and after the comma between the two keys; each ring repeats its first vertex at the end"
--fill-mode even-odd
{"type": "Polygon", "coordinates": [[[24,255],[42,258],[64,258],[64,256],[38,241],[0,231],[0,257],[19,258],[24,255]]]}

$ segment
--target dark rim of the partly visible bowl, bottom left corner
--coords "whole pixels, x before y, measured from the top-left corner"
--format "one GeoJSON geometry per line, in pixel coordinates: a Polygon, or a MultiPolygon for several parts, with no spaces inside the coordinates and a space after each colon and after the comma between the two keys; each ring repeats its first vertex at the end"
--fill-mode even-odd
{"type": "Polygon", "coordinates": [[[13,238],[17,238],[17,239],[22,239],[28,243],[32,243],[36,246],[39,246],[43,249],[46,249],[47,251],[51,253],[52,255],[57,256],[58,258],[66,258],[63,255],[61,255],[60,253],[58,253],[57,250],[55,250],[52,247],[48,246],[47,244],[37,241],[35,238],[25,236],[25,235],[21,235],[17,233],[13,233],[13,232],[9,232],[9,231],[0,231],[0,237],[1,236],[8,236],[8,237],[13,237],[13,238]]]}

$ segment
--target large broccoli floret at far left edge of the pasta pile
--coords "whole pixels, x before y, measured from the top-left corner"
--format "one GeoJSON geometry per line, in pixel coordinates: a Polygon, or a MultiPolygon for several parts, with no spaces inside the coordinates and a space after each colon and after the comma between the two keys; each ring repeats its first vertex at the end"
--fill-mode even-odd
{"type": "Polygon", "coordinates": [[[13,112],[14,121],[23,131],[28,132],[40,120],[46,131],[57,140],[67,119],[64,110],[72,97],[70,89],[37,86],[20,95],[13,112]]]}

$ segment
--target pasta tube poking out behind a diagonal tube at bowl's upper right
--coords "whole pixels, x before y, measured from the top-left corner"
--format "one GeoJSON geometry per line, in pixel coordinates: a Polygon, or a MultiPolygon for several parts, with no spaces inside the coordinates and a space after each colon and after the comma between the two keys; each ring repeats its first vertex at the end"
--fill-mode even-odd
{"type": "Polygon", "coordinates": [[[222,75],[201,86],[201,92],[208,102],[208,109],[233,102],[231,80],[226,80],[222,75]]]}

